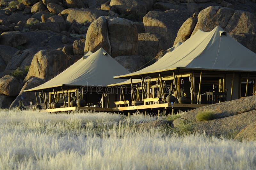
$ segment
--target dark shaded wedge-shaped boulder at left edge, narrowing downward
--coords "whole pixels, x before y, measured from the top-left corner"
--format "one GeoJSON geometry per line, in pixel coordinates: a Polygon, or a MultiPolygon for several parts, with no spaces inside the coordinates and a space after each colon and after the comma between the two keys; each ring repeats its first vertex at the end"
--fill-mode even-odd
{"type": "Polygon", "coordinates": [[[14,47],[0,45],[0,57],[4,60],[6,65],[9,63],[9,61],[12,59],[13,55],[17,51],[19,51],[19,50],[14,47]]]}

